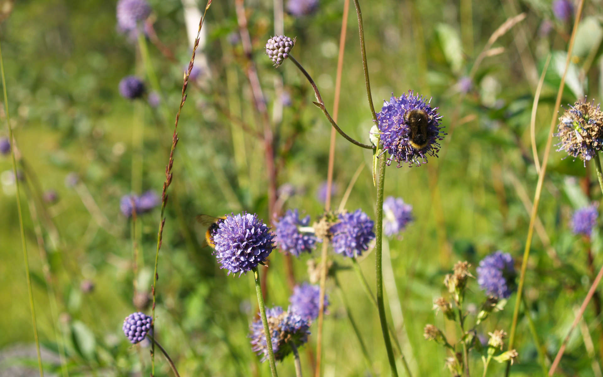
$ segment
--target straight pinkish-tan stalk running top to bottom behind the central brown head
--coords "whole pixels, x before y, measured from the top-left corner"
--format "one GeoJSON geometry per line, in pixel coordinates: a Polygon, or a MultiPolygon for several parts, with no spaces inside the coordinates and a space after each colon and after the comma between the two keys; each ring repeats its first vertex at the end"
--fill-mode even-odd
{"type": "MultiPolygon", "coordinates": [[[[341,30],[339,31],[339,51],[337,54],[337,72],[335,75],[335,97],[333,98],[333,121],[337,121],[339,116],[339,98],[341,95],[341,76],[343,74],[343,58],[346,51],[346,30],[347,17],[350,12],[349,0],[343,2],[343,16],[341,17],[341,30]]],[[[318,89],[317,89],[318,90],[318,89]]],[[[333,165],[335,165],[335,128],[331,127],[329,139],[329,163],[327,165],[327,198],[324,203],[325,211],[331,208],[331,192],[333,189],[333,165]]],[[[316,367],[314,375],[320,377],[320,363],[322,359],[323,343],[323,324],[324,324],[324,293],[327,282],[327,251],[329,249],[329,240],[324,239],[321,249],[321,268],[320,268],[320,292],[318,299],[318,335],[316,347],[316,367]]]]}

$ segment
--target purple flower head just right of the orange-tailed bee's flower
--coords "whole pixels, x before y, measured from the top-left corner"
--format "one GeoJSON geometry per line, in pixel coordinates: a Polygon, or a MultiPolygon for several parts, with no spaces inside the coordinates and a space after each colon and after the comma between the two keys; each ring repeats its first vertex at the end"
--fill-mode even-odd
{"type": "Polygon", "coordinates": [[[288,209],[285,215],[274,222],[277,246],[295,256],[300,256],[303,252],[311,253],[317,238],[312,233],[300,232],[298,229],[300,226],[309,226],[309,224],[309,215],[300,218],[297,208],[288,209]]]}

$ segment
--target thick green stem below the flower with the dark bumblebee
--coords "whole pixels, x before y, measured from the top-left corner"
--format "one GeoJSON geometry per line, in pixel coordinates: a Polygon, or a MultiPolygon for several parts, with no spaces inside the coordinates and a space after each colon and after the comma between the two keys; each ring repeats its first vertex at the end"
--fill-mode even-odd
{"type": "MultiPolygon", "coordinates": [[[[356,1],[356,0],[355,0],[356,1]]],[[[391,375],[398,376],[394,350],[391,348],[390,333],[388,332],[387,317],[385,316],[385,302],[383,297],[383,273],[381,271],[381,249],[383,237],[383,186],[385,182],[385,156],[379,160],[379,178],[377,179],[377,216],[375,227],[375,274],[377,284],[377,308],[379,309],[379,321],[381,332],[385,341],[387,358],[390,361],[391,375]]]]}

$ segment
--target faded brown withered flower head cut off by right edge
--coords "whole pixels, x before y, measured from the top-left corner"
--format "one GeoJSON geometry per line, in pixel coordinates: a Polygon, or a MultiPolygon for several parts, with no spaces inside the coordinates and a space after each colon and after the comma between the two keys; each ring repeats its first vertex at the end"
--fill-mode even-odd
{"type": "Polygon", "coordinates": [[[572,157],[586,161],[595,157],[603,147],[603,112],[595,102],[576,101],[559,118],[557,144],[572,157]]]}

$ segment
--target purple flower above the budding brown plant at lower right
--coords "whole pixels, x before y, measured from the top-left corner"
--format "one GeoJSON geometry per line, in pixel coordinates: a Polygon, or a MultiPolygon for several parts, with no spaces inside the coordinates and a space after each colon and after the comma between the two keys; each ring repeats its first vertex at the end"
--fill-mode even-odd
{"type": "Polygon", "coordinates": [[[497,251],[479,262],[478,284],[491,296],[508,299],[515,290],[515,267],[509,253],[497,251]]]}

